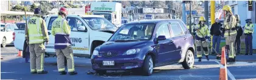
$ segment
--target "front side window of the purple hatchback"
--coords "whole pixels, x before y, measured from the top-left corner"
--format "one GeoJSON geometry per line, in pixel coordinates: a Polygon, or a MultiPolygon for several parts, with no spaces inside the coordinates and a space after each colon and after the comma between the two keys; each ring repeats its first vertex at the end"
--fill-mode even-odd
{"type": "Polygon", "coordinates": [[[170,35],[170,30],[168,28],[168,23],[164,23],[164,24],[161,24],[157,31],[156,31],[156,38],[158,36],[165,36],[165,38],[170,38],[171,35],[170,35]]]}

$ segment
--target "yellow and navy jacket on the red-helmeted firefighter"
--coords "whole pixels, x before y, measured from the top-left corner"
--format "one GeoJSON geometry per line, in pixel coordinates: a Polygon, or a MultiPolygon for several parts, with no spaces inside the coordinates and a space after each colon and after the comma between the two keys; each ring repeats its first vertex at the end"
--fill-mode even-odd
{"type": "Polygon", "coordinates": [[[52,35],[55,36],[55,49],[66,48],[67,45],[71,45],[71,39],[69,35],[71,33],[71,28],[67,24],[66,19],[58,16],[54,22],[52,22],[52,35]]]}

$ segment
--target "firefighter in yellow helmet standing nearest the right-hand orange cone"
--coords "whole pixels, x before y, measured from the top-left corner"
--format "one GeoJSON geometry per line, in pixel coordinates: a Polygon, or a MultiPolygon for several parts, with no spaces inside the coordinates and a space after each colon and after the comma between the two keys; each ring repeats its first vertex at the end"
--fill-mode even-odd
{"type": "Polygon", "coordinates": [[[226,38],[226,49],[228,51],[229,59],[228,62],[235,61],[235,38],[237,36],[236,18],[233,15],[229,5],[223,7],[225,18],[224,18],[224,37],[226,38]]]}

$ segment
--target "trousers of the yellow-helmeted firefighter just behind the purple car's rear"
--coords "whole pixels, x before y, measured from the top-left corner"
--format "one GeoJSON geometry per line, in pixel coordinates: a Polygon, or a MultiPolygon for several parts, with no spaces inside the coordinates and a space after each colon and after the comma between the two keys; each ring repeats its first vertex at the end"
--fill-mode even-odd
{"type": "Polygon", "coordinates": [[[196,40],[196,56],[197,58],[202,58],[202,50],[204,50],[204,55],[209,55],[208,50],[208,43],[206,41],[200,41],[200,40],[196,40]]]}

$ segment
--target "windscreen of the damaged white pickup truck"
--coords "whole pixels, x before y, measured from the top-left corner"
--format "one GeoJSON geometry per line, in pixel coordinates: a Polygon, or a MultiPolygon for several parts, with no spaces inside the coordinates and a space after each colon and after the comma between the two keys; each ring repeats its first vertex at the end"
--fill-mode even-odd
{"type": "Polygon", "coordinates": [[[86,17],[83,19],[89,24],[89,27],[91,27],[92,30],[117,29],[116,25],[112,24],[105,18],[86,17]]]}

